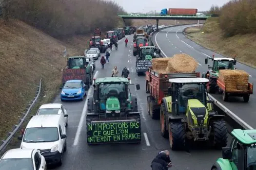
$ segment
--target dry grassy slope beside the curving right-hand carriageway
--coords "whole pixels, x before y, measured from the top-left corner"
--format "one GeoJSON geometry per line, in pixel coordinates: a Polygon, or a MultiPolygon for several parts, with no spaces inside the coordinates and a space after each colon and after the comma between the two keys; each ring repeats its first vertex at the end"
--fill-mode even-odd
{"type": "Polygon", "coordinates": [[[239,62],[256,68],[256,34],[225,38],[219,28],[217,17],[209,18],[201,29],[191,27],[185,32],[188,38],[198,44],[226,56],[233,57],[236,54],[239,62]]]}

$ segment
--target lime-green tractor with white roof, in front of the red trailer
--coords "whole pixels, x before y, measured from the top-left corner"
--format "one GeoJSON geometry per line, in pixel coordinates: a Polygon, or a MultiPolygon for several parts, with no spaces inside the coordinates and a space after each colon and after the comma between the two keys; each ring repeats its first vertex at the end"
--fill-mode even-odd
{"type": "Polygon", "coordinates": [[[205,78],[169,79],[170,96],[162,98],[160,107],[161,135],[169,137],[172,150],[184,150],[185,141],[212,141],[215,148],[227,145],[224,115],[213,111],[207,97],[205,78]]]}

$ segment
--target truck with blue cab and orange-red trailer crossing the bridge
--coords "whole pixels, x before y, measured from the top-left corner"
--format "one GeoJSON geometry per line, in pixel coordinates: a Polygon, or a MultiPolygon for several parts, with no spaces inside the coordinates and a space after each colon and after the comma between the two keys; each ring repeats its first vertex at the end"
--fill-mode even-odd
{"type": "Polygon", "coordinates": [[[197,9],[191,8],[164,8],[160,12],[160,16],[196,16],[197,9]]]}

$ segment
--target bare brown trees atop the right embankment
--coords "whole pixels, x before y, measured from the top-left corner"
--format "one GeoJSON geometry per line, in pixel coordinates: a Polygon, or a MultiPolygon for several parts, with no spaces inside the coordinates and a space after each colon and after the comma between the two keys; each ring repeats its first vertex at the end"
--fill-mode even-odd
{"type": "Polygon", "coordinates": [[[256,0],[231,0],[210,12],[219,14],[219,25],[226,36],[256,33],[256,0]]]}

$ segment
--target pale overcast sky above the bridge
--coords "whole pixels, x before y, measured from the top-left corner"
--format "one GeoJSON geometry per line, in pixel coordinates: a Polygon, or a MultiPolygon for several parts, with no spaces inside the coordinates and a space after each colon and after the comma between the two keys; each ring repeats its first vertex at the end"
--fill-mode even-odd
{"type": "Polygon", "coordinates": [[[222,6],[229,0],[112,0],[116,1],[128,13],[160,12],[163,8],[197,8],[207,11],[212,4],[222,6]]]}

